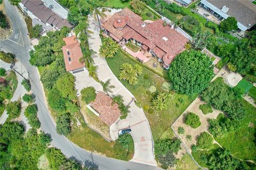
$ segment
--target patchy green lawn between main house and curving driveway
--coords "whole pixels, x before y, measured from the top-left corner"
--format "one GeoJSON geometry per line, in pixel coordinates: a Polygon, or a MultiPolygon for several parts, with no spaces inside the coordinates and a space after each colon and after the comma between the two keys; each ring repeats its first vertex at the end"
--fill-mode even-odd
{"type": "MultiPolygon", "coordinates": [[[[134,61],[123,55],[122,52],[118,52],[112,59],[107,58],[107,63],[117,78],[120,72],[119,68],[123,63],[130,63],[132,65],[135,64],[134,61]]],[[[143,67],[142,75],[139,76],[137,85],[131,86],[127,81],[124,80],[121,80],[121,82],[128,90],[132,92],[143,108],[145,105],[150,107],[150,101],[153,99],[156,92],[164,91],[164,89],[162,89],[162,83],[166,82],[166,80],[143,67]],[[146,77],[148,77],[148,79],[144,78],[145,75],[147,75],[146,77]],[[156,87],[156,92],[154,92],[154,94],[147,92],[150,86],[156,87]]],[[[174,93],[166,110],[153,110],[154,112],[151,114],[144,111],[148,118],[154,140],[159,138],[163,139],[173,137],[170,126],[185,111],[185,109],[195,98],[196,95],[186,96],[174,93]],[[182,103],[180,101],[182,101],[182,103]]]]}

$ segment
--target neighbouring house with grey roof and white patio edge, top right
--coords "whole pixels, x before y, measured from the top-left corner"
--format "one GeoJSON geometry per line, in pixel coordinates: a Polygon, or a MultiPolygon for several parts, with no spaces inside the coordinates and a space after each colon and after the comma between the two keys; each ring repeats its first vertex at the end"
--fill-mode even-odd
{"type": "Polygon", "coordinates": [[[233,16],[237,20],[239,31],[251,29],[256,23],[256,5],[249,0],[202,0],[199,7],[209,11],[218,20],[233,16]]]}

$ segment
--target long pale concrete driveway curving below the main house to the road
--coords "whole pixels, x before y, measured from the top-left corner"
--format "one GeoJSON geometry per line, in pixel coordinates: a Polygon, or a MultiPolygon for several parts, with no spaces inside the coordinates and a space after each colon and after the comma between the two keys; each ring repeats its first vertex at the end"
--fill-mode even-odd
{"type": "MultiPolygon", "coordinates": [[[[92,33],[89,35],[89,46],[95,52],[93,56],[94,65],[98,66],[97,74],[101,81],[106,82],[110,80],[111,85],[115,88],[111,89],[113,92],[110,95],[121,95],[124,99],[124,104],[130,103],[134,97],[129,90],[127,90],[121,82],[111,72],[106,60],[99,57],[99,49],[101,39],[99,37],[99,25],[91,16],[89,16],[89,30],[92,33]]],[[[129,125],[132,129],[132,137],[134,140],[134,156],[132,162],[156,166],[153,152],[153,138],[150,131],[150,126],[143,110],[136,106],[133,102],[130,105],[130,113],[125,120],[118,120],[110,126],[110,136],[112,139],[118,138],[118,130],[127,128],[129,125]]]]}

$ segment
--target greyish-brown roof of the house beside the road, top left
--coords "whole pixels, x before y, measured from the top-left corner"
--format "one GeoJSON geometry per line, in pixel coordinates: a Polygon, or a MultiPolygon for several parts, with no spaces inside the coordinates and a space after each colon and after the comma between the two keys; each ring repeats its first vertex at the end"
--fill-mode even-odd
{"type": "Polygon", "coordinates": [[[22,0],[21,3],[32,12],[39,20],[44,23],[52,24],[57,29],[64,26],[72,28],[73,26],[68,20],[61,18],[58,14],[54,13],[51,8],[46,7],[43,1],[40,0],[22,0]]]}

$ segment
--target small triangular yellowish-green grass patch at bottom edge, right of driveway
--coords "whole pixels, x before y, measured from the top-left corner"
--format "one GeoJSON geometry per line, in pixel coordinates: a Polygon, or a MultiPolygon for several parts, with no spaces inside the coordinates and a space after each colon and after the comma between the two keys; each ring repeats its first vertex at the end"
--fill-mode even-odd
{"type": "Polygon", "coordinates": [[[185,170],[185,169],[197,170],[198,166],[188,154],[185,154],[181,158],[181,160],[178,160],[176,169],[177,170],[185,170]]]}

